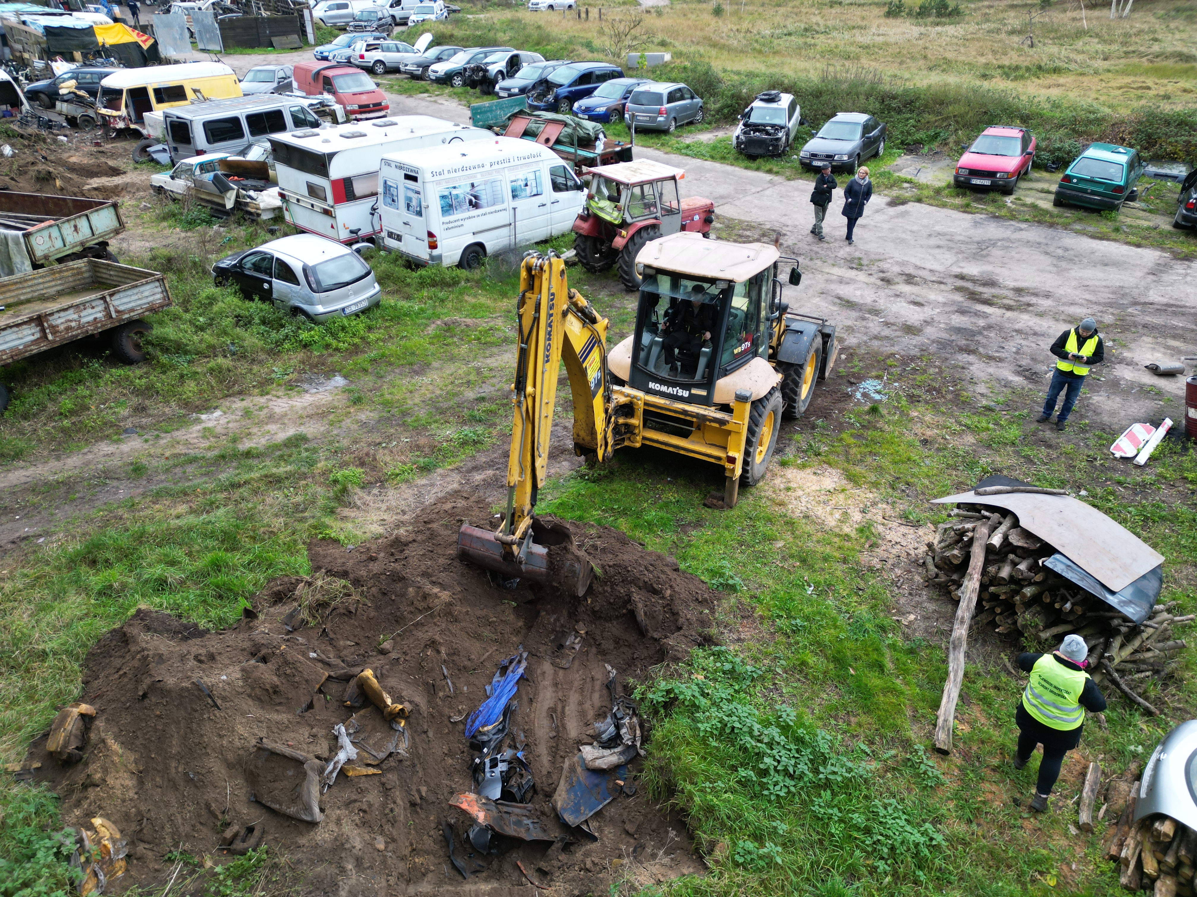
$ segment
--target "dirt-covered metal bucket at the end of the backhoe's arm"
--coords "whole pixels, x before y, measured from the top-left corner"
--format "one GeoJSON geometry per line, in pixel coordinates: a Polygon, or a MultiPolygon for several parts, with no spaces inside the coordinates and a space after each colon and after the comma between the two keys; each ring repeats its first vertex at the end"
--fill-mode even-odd
{"type": "Polygon", "coordinates": [[[523,539],[463,524],[457,533],[457,554],[509,579],[530,579],[578,598],[594,579],[590,560],[575,545],[569,527],[557,520],[534,519],[523,539]]]}

